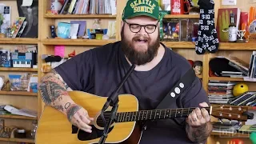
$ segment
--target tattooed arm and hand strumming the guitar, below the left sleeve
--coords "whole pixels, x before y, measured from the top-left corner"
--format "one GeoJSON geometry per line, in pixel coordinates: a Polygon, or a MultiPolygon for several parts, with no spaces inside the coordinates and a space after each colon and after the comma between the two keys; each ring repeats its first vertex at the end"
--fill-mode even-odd
{"type": "Polygon", "coordinates": [[[66,114],[66,117],[74,126],[90,133],[91,126],[88,124],[93,118],[90,118],[87,111],[70,98],[67,93],[68,88],[61,75],[55,70],[46,74],[38,87],[42,101],[46,105],[53,106],[58,111],[66,114]]]}

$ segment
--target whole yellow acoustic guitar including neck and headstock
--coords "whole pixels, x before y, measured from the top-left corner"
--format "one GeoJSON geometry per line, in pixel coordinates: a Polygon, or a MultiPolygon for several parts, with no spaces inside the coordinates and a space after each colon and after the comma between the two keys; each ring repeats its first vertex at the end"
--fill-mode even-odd
{"type": "MultiPolygon", "coordinates": [[[[104,130],[104,123],[100,116],[106,97],[99,97],[82,91],[70,91],[70,97],[78,105],[84,107],[90,117],[94,118],[90,126],[92,133],[86,133],[72,126],[65,114],[51,106],[45,106],[38,120],[38,129],[35,136],[37,144],[85,144],[98,143],[104,130]]],[[[114,123],[111,124],[106,143],[138,143],[142,131],[136,122],[157,120],[164,118],[187,117],[195,108],[178,108],[166,110],[138,110],[138,99],[131,94],[118,96],[118,111],[114,123]]],[[[110,109],[104,112],[106,121],[110,117],[110,109]]],[[[246,107],[241,106],[210,106],[209,114],[216,118],[246,121],[254,117],[247,112],[246,107]]]]}

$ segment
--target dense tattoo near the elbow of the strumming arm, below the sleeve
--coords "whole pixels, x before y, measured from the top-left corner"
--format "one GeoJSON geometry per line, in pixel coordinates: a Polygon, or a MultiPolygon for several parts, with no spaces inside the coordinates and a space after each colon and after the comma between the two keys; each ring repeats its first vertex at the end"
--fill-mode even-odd
{"type": "Polygon", "coordinates": [[[42,78],[38,90],[40,90],[42,101],[46,105],[52,105],[58,110],[63,110],[63,106],[58,106],[56,100],[61,101],[62,96],[68,95],[67,88],[68,86],[62,77],[55,70],[52,70],[42,78]]]}

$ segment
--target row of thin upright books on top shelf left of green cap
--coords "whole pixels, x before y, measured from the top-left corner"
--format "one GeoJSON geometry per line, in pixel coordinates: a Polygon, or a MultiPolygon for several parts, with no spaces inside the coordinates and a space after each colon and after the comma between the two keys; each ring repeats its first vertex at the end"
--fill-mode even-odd
{"type": "Polygon", "coordinates": [[[65,0],[58,14],[116,14],[116,0],[65,0]]]}

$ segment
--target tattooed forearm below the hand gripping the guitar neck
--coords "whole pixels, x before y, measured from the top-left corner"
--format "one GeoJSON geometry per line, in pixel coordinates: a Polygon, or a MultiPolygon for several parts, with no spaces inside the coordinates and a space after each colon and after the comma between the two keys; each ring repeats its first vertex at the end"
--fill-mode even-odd
{"type": "Polygon", "coordinates": [[[190,138],[192,142],[196,143],[205,142],[210,136],[211,130],[211,122],[207,122],[205,125],[198,127],[190,127],[188,124],[186,124],[186,133],[188,138],[190,138]]]}

